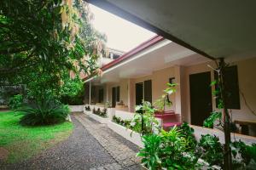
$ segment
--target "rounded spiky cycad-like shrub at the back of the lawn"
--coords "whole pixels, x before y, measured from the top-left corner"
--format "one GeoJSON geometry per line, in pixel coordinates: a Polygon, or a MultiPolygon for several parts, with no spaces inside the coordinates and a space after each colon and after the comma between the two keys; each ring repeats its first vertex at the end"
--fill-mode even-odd
{"type": "Polygon", "coordinates": [[[24,115],[20,118],[20,123],[28,126],[65,122],[70,113],[68,105],[62,105],[52,99],[26,104],[19,111],[24,115]]]}

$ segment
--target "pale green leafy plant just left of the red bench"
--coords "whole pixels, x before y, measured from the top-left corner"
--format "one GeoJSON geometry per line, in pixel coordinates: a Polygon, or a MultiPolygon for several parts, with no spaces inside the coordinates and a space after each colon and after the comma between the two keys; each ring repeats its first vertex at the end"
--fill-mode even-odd
{"type": "Polygon", "coordinates": [[[132,131],[142,134],[154,133],[158,130],[158,122],[154,117],[155,109],[148,101],[143,101],[143,105],[136,106],[136,113],[133,116],[130,127],[132,131]]]}

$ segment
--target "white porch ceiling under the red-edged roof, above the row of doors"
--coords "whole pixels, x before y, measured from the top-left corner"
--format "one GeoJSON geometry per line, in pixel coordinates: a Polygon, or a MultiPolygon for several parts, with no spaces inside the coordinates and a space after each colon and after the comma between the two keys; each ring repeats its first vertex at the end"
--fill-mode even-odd
{"type": "Polygon", "coordinates": [[[131,59],[127,59],[107,71],[103,71],[102,77],[87,80],[87,82],[92,81],[95,84],[119,82],[125,78],[148,76],[153,71],[173,65],[195,65],[207,60],[209,59],[200,54],[195,54],[195,52],[188,48],[183,48],[175,42],[163,40],[135,54],[131,59]]]}

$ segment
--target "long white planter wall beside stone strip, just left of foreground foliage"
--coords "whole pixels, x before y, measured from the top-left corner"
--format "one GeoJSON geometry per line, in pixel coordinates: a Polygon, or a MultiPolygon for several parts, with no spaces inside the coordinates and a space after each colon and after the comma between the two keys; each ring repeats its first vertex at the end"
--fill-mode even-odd
{"type": "Polygon", "coordinates": [[[108,121],[108,127],[111,128],[113,132],[118,133],[125,139],[131,141],[133,144],[137,144],[139,147],[143,147],[143,141],[141,139],[140,133],[132,132],[131,129],[123,127],[112,121],[108,121]]]}

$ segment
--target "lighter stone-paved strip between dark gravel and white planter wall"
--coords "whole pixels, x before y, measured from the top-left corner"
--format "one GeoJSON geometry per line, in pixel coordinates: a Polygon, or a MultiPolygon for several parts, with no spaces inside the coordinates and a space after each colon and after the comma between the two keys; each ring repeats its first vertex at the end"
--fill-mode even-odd
{"type": "Polygon", "coordinates": [[[137,151],[132,150],[128,144],[124,144],[123,141],[117,139],[116,133],[110,130],[105,124],[93,121],[84,114],[76,114],[74,117],[82,123],[86,130],[117,161],[117,163],[91,169],[141,169],[140,160],[136,157],[137,151]]]}

